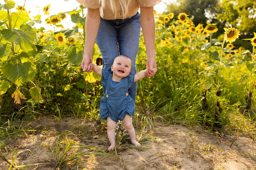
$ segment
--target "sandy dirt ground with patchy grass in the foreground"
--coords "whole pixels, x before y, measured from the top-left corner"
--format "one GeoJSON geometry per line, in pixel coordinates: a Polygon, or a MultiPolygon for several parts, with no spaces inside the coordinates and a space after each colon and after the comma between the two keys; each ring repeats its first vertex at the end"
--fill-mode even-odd
{"type": "MultiPolygon", "coordinates": [[[[78,145],[89,145],[103,150],[108,148],[106,132],[95,134],[93,122],[73,118],[56,121],[53,117],[42,116],[37,122],[23,122],[23,125],[27,124],[37,131],[25,137],[17,136],[13,143],[6,142],[10,148],[16,147],[18,151],[24,149],[31,151],[23,151],[15,159],[18,165],[39,163],[27,169],[56,169],[54,168],[56,152],[53,151],[56,151],[54,149],[56,148],[56,136],[59,134],[66,134],[78,145]]],[[[142,144],[144,148],[133,148],[129,143],[125,143],[124,147],[117,149],[118,157],[86,155],[86,159],[83,159],[84,163],[80,163],[78,169],[217,170],[223,168],[224,170],[256,170],[256,144],[253,145],[252,138],[245,134],[239,136],[230,147],[238,134],[219,137],[196,128],[181,125],[164,126],[161,123],[156,123],[155,128],[156,131],[144,132],[149,135],[143,137],[147,139],[142,144]]],[[[13,155],[10,154],[10,149],[7,150],[9,154],[2,148],[2,152],[5,152],[4,154],[11,161],[13,155]]],[[[115,151],[106,152],[115,154],[115,151]]],[[[75,166],[72,167],[72,170],[77,169],[75,166]]],[[[0,170],[8,168],[9,166],[0,160],[0,170]]]]}

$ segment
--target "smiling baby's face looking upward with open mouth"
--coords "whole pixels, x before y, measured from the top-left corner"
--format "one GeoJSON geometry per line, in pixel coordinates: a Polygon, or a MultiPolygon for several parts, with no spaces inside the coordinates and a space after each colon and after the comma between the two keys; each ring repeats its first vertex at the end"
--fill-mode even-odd
{"type": "Polygon", "coordinates": [[[124,78],[127,77],[131,72],[132,61],[125,56],[118,56],[115,58],[111,70],[113,75],[124,78]]]}

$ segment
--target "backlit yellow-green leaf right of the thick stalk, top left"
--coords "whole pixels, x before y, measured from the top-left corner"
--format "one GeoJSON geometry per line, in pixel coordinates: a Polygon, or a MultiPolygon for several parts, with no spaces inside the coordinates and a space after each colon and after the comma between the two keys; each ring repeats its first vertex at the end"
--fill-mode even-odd
{"type": "Polygon", "coordinates": [[[12,27],[20,28],[20,26],[22,24],[25,24],[29,20],[30,20],[30,18],[26,11],[22,10],[22,11],[18,11],[18,12],[12,12],[12,27]]]}

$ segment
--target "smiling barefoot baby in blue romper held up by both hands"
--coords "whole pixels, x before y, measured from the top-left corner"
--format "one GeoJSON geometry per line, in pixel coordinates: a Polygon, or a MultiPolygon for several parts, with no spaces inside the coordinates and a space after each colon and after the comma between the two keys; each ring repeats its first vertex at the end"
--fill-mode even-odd
{"type": "MultiPolygon", "coordinates": [[[[106,92],[100,101],[100,117],[103,120],[107,120],[107,133],[110,141],[108,150],[112,150],[116,146],[115,128],[118,120],[123,122],[131,143],[135,146],[141,146],[136,141],[136,134],[131,121],[135,105],[128,93],[128,89],[134,82],[145,77],[146,70],[137,74],[130,74],[131,66],[132,61],[126,55],[119,55],[114,59],[111,66],[113,74],[94,65],[93,71],[102,77],[102,85],[106,88],[106,92]]],[[[156,69],[154,72],[156,72],[156,69]]]]}

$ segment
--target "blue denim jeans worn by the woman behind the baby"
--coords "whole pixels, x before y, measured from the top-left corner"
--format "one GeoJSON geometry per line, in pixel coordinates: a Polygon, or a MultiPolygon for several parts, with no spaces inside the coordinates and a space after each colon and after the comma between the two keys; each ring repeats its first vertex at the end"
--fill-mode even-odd
{"type": "MultiPolygon", "coordinates": [[[[131,74],[136,74],[136,56],[140,42],[140,14],[126,19],[100,20],[96,43],[103,58],[103,68],[110,73],[116,56],[127,55],[132,60],[131,74]]],[[[103,86],[103,92],[105,93],[103,86]]],[[[137,82],[129,89],[129,95],[135,102],[137,82]]]]}

